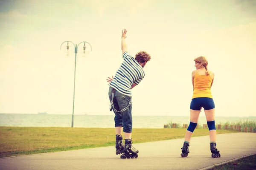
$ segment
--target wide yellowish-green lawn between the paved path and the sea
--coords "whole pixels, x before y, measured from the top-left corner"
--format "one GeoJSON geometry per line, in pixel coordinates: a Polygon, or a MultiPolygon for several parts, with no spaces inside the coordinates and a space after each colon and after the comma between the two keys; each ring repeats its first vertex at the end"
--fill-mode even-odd
{"type": "MultiPolygon", "coordinates": [[[[186,129],[133,129],[134,143],[184,138],[186,129]]],[[[217,134],[234,133],[217,130],[217,134]]],[[[209,135],[196,129],[193,136],[209,135]]],[[[0,127],[0,158],[115,145],[114,128],[0,127]]]]}

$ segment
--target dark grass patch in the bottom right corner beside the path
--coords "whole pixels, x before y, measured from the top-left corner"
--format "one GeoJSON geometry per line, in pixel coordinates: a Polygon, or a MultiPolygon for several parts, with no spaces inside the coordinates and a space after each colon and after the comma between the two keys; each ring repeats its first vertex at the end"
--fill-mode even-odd
{"type": "Polygon", "coordinates": [[[227,164],[212,168],[211,170],[255,170],[256,155],[247,158],[241,158],[236,161],[230,161],[227,164]]]}

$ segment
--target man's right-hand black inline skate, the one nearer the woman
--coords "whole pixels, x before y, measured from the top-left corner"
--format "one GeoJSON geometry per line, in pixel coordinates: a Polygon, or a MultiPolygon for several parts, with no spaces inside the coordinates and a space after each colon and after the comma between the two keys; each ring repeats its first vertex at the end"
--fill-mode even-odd
{"type": "Polygon", "coordinates": [[[137,150],[131,144],[132,144],[131,139],[125,139],[125,148],[124,148],[124,153],[120,156],[121,159],[138,158],[137,153],[139,153],[139,150],[137,150]]]}

